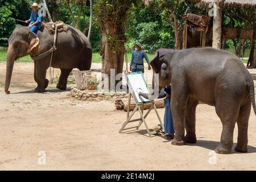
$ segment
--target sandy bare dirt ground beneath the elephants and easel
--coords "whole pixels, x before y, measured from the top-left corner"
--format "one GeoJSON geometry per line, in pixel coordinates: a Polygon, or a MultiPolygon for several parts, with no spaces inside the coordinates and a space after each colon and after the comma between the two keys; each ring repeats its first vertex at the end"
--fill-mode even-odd
{"type": "MultiPolygon", "coordinates": [[[[93,64],[94,68],[100,65],[93,64]]],[[[249,152],[216,155],[221,122],[214,107],[197,107],[196,144],[172,146],[162,136],[142,130],[119,134],[126,119],[113,101],[73,100],[69,92],[50,85],[47,93],[33,93],[34,65],[14,65],[10,95],[4,93],[5,63],[0,63],[1,170],[255,170],[256,117],[251,110],[249,152]],[[43,153],[40,153],[43,151],[43,153]],[[46,152],[46,164],[42,154],[46,152]]],[[[56,72],[56,71],[55,71],[56,72]]],[[[48,76],[48,74],[47,74],[48,76]]],[[[164,109],[159,109],[163,119],[164,109]]],[[[152,113],[148,125],[157,125],[152,113]]],[[[237,127],[234,146],[237,142],[237,127]]]]}

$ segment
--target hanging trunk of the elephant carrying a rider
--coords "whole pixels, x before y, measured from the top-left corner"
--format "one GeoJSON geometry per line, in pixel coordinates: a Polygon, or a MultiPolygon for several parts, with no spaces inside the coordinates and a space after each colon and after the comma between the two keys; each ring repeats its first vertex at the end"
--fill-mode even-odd
{"type": "Polygon", "coordinates": [[[13,46],[9,46],[6,58],[6,77],[5,77],[5,93],[10,94],[9,86],[11,82],[11,75],[13,73],[13,65],[16,58],[13,46]]]}

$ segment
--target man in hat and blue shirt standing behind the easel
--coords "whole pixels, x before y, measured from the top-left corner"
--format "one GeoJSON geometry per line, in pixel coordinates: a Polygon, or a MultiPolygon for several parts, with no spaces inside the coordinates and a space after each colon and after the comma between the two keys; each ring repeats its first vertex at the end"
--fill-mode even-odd
{"type": "Polygon", "coordinates": [[[143,59],[146,59],[148,64],[148,70],[151,69],[150,61],[147,57],[147,54],[144,50],[142,50],[141,43],[134,44],[135,50],[131,55],[131,63],[130,63],[130,71],[131,72],[142,72],[144,73],[144,64],[143,59]]]}

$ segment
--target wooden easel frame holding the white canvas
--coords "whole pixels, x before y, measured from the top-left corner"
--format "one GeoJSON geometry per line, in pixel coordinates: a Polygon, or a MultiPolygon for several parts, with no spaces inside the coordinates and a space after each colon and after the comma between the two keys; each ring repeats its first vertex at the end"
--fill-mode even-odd
{"type": "Polygon", "coordinates": [[[124,131],[124,130],[130,130],[130,129],[138,130],[139,127],[142,125],[142,123],[144,123],[149,137],[152,137],[152,135],[154,135],[154,134],[158,134],[159,131],[163,131],[164,132],[163,123],[162,123],[161,118],[160,118],[160,116],[158,114],[158,110],[156,109],[155,102],[153,100],[149,101],[149,102],[146,102],[147,104],[151,103],[151,107],[150,107],[150,109],[147,110],[147,113],[144,115],[143,111],[144,111],[144,104],[145,103],[141,104],[141,103],[137,102],[137,100],[135,99],[136,96],[135,96],[133,90],[131,90],[131,85],[129,84],[128,80],[127,80],[127,82],[128,82],[129,90],[130,90],[129,98],[128,98],[127,117],[126,117],[126,122],[123,123],[121,129],[119,130],[119,133],[122,133],[122,131],[124,131]],[[130,114],[131,96],[133,96],[133,98],[135,100],[136,106],[135,106],[134,110],[130,114]],[[153,110],[153,109],[155,110],[156,116],[158,117],[158,120],[159,120],[159,123],[160,123],[160,125],[158,125],[159,126],[158,130],[148,129],[147,122],[146,122],[146,118],[147,118],[148,114],[150,114],[150,111],[153,110]],[[141,117],[138,118],[138,119],[132,119],[131,120],[131,118],[133,117],[133,115],[136,113],[137,110],[139,111],[139,114],[140,114],[141,117]],[[137,122],[137,121],[139,121],[137,126],[125,128],[128,123],[137,122]]]}

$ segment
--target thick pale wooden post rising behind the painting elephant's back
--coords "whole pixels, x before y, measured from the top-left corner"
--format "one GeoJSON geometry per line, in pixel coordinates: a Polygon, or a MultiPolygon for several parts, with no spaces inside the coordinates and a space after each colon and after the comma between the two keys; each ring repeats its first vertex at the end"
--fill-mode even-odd
{"type": "Polygon", "coordinates": [[[213,42],[212,47],[221,49],[221,23],[222,23],[222,6],[225,0],[214,0],[214,19],[213,19],[213,42]]]}

